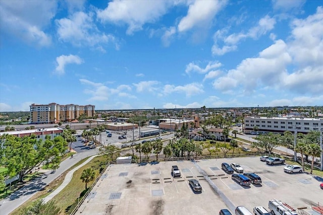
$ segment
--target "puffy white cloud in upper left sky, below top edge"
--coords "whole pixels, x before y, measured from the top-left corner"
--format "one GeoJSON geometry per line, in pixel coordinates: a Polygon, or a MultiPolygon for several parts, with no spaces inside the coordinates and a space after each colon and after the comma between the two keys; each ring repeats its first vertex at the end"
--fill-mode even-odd
{"type": "Polygon", "coordinates": [[[119,43],[112,34],[101,33],[93,23],[93,14],[76,12],[69,18],[56,20],[59,39],[70,42],[74,46],[94,46],[97,50],[105,52],[101,44],[114,44],[119,50],[119,43]]]}

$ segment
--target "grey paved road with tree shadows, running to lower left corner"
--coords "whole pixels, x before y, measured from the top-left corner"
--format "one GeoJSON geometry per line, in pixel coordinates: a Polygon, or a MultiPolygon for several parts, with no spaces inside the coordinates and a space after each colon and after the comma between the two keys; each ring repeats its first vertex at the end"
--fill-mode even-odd
{"type": "Polygon", "coordinates": [[[17,190],[7,198],[0,201],[0,215],[7,215],[12,212],[14,209],[19,207],[29,198],[31,198],[37,191],[44,188],[47,184],[55,180],[62,173],[68,170],[71,166],[81,161],[84,158],[93,156],[97,154],[97,149],[93,150],[84,150],[82,153],[77,153],[73,156],[73,158],[68,158],[64,160],[60,168],[56,170],[55,173],[51,173],[51,171],[47,171],[42,174],[40,177],[36,178],[23,188],[17,190]]]}

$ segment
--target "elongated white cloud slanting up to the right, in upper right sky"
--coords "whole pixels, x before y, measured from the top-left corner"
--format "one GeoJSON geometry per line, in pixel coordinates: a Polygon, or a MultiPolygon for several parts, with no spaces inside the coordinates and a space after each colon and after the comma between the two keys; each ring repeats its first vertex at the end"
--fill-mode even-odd
{"type": "Polygon", "coordinates": [[[248,30],[247,33],[233,33],[229,36],[225,36],[228,32],[228,28],[218,30],[214,35],[214,44],[212,46],[211,52],[213,55],[224,55],[228,52],[234,51],[237,49],[237,44],[242,39],[252,38],[258,39],[260,36],[266,34],[267,32],[274,29],[276,24],[275,18],[271,18],[266,15],[258,21],[258,24],[248,30]],[[219,42],[223,41],[224,45],[219,46],[219,42]]]}

